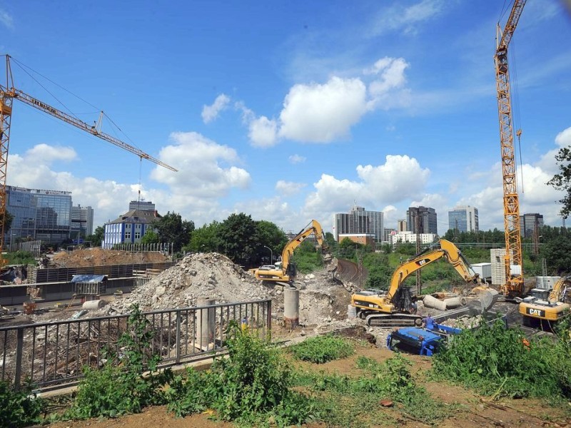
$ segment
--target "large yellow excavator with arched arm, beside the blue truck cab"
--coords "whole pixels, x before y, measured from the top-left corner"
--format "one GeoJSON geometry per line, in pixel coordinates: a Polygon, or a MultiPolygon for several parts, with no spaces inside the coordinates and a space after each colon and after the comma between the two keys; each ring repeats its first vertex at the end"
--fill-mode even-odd
{"type": "Polygon", "coordinates": [[[486,283],[470,267],[470,263],[456,245],[441,239],[398,266],[390,278],[390,286],[386,294],[370,290],[355,292],[351,296],[351,305],[357,309],[357,315],[365,319],[367,325],[370,326],[420,325],[422,317],[415,314],[414,305],[418,297],[410,295],[410,289],[402,285],[411,274],[441,258],[453,265],[465,282],[475,284],[472,290],[475,292],[488,290],[486,283]]]}

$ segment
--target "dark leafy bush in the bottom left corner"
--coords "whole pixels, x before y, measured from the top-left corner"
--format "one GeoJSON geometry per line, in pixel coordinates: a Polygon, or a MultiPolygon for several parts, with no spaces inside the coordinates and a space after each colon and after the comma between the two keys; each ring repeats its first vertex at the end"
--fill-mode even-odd
{"type": "Polygon", "coordinates": [[[44,407],[44,401],[31,394],[29,385],[14,391],[8,382],[0,382],[0,427],[27,427],[39,423],[44,407]]]}

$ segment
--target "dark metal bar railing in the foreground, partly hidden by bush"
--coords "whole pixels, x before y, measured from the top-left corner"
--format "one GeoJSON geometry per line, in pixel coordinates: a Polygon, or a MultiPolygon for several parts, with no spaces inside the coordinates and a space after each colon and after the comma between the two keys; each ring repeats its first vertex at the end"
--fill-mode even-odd
{"type": "MultiPolygon", "coordinates": [[[[153,332],[147,357],[160,355],[163,368],[224,355],[231,322],[271,340],[271,312],[271,300],[143,312],[153,332]]],[[[15,390],[24,382],[38,390],[75,384],[84,367],[103,367],[110,352],[121,358],[118,339],[128,331],[128,317],[0,327],[0,381],[15,390]]]]}

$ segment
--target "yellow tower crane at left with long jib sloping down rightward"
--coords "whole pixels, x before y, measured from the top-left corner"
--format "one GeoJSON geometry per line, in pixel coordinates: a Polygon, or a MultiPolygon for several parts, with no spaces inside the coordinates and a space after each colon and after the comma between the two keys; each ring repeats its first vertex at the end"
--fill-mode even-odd
{"type": "MultiPolygon", "coordinates": [[[[59,111],[57,108],[51,107],[43,101],[39,101],[33,96],[30,96],[27,93],[16,89],[14,87],[14,78],[11,72],[10,56],[6,55],[6,86],[0,84],[0,255],[4,250],[4,218],[6,215],[6,168],[8,166],[10,122],[12,116],[12,101],[14,101],[14,99],[37,108],[39,111],[48,113],[55,118],[59,118],[62,121],[81,129],[82,131],[91,133],[98,138],[114,144],[115,146],[125,149],[126,151],[135,153],[141,159],[147,159],[148,161],[156,163],[157,165],[161,165],[171,171],[176,171],[176,168],[173,168],[171,165],[167,165],[166,163],[153,158],[138,148],[118,140],[118,138],[101,132],[101,119],[103,117],[103,112],[101,112],[98,123],[94,126],[91,126],[83,121],[80,121],[78,118],[69,115],[68,113],[59,111]]],[[[0,267],[1,265],[4,265],[4,260],[2,260],[0,256],[0,267]]]]}

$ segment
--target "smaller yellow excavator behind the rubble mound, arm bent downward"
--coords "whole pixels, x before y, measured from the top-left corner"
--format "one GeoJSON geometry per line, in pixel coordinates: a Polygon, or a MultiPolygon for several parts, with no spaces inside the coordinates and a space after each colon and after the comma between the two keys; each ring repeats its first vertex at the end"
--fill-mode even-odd
{"type": "Polygon", "coordinates": [[[295,263],[292,263],[291,257],[293,255],[293,250],[298,248],[303,241],[308,238],[309,235],[315,235],[315,240],[319,244],[323,255],[323,260],[327,262],[330,260],[331,256],[325,254],[327,246],[325,245],[325,235],[323,234],[323,229],[317,220],[311,220],[310,223],[303,228],[295,237],[290,240],[281,253],[281,261],[277,262],[276,265],[268,265],[258,267],[258,269],[253,270],[256,279],[262,281],[273,281],[281,283],[281,285],[293,285],[293,278],[297,274],[295,268],[295,263]]]}

